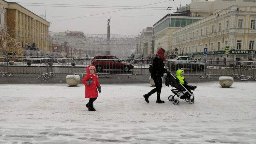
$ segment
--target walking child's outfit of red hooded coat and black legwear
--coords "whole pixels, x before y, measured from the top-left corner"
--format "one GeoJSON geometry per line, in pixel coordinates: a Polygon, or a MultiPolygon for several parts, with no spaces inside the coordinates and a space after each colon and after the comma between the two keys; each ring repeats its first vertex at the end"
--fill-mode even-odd
{"type": "Polygon", "coordinates": [[[94,71],[94,74],[90,74],[90,70],[89,70],[90,67],[94,67],[94,70],[96,71],[96,68],[94,65],[87,66],[87,68],[86,68],[87,75],[83,79],[83,84],[85,85],[85,98],[90,98],[89,102],[86,104],[86,107],[87,106],[93,107],[93,102],[98,97],[97,88],[98,88],[98,90],[101,89],[98,77],[97,77],[97,75],[95,75],[95,71],[94,71]],[[89,81],[90,78],[92,78],[92,80],[93,80],[92,84],[87,83],[87,81],[89,81]]]}

